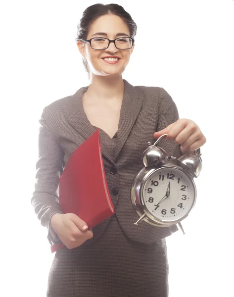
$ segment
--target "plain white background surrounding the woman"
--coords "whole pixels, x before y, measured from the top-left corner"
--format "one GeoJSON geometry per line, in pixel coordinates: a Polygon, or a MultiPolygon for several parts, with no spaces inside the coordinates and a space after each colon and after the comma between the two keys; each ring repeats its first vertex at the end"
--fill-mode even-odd
{"type": "MultiPolygon", "coordinates": [[[[111,2],[111,1],[110,1],[111,2]]],[[[138,25],[123,78],[163,87],[207,138],[197,203],[168,238],[169,297],[234,296],[234,1],[115,1],[138,25]]],[[[89,81],[75,38],[96,1],[2,1],[0,295],[46,296],[53,255],[31,206],[38,120],[89,81]]],[[[109,3],[109,2],[103,2],[109,3]]]]}

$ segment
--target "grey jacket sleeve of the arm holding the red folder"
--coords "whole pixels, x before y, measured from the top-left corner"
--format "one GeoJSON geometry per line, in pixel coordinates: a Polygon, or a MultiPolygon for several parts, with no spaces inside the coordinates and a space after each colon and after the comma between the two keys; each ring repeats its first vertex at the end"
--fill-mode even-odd
{"type": "Polygon", "coordinates": [[[59,206],[58,185],[63,171],[64,152],[48,129],[45,110],[39,121],[39,157],[36,163],[35,191],[31,202],[42,226],[47,227],[47,239],[52,245],[59,242],[59,238],[50,227],[51,217],[55,213],[63,213],[59,206]]]}

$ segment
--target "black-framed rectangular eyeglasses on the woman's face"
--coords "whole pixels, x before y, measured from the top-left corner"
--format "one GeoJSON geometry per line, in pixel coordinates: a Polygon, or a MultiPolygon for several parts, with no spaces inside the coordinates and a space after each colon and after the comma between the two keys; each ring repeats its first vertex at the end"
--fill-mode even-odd
{"type": "Polygon", "coordinates": [[[116,49],[131,49],[134,44],[134,39],[131,37],[119,37],[114,40],[110,40],[105,37],[94,37],[89,40],[83,40],[89,42],[92,49],[107,49],[111,42],[115,44],[116,49]]]}

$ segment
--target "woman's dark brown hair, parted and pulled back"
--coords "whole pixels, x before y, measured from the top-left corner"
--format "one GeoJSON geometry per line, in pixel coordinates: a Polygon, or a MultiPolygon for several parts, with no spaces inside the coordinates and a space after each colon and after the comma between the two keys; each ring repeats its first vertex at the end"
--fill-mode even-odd
{"type": "MultiPolygon", "coordinates": [[[[120,5],[118,4],[101,4],[97,3],[89,6],[83,12],[81,20],[77,26],[77,37],[78,40],[86,40],[88,36],[89,29],[92,23],[100,16],[105,14],[115,14],[122,18],[129,27],[130,37],[134,38],[137,34],[137,24],[132,19],[131,15],[120,5]]],[[[89,65],[86,58],[83,57],[83,64],[85,70],[90,73],[89,65]]]]}

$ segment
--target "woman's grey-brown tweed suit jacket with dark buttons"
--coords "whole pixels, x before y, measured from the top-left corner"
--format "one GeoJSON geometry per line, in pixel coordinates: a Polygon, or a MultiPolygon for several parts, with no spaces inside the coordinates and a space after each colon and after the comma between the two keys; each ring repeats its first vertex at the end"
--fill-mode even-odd
{"type": "MultiPolygon", "coordinates": [[[[114,157],[110,155],[101,140],[101,150],[109,191],[118,189],[117,195],[111,194],[116,217],[125,233],[133,241],[150,244],[177,231],[174,227],[154,227],[139,219],[131,202],[133,180],[143,167],[141,156],[148,142],[155,142],[153,133],[164,129],[179,118],[175,102],[169,94],[158,87],[132,86],[124,80],[125,90],[117,131],[114,157]],[[111,168],[117,169],[111,174],[111,168]]],[[[79,89],[74,95],[54,101],[45,107],[40,119],[39,158],[36,164],[36,184],[32,205],[41,224],[49,230],[50,219],[54,213],[62,213],[59,207],[58,184],[60,175],[70,155],[96,127],[89,122],[83,108],[82,97],[88,87],[79,89]]],[[[168,155],[179,157],[179,146],[164,139],[160,142],[168,155]]],[[[116,194],[116,193],[114,193],[116,194]]],[[[109,219],[94,227],[94,242],[107,226],[109,219]]],[[[48,240],[53,238],[48,232],[48,240]]]]}

